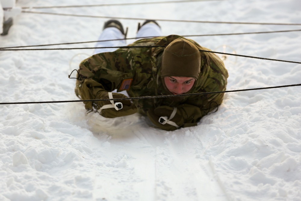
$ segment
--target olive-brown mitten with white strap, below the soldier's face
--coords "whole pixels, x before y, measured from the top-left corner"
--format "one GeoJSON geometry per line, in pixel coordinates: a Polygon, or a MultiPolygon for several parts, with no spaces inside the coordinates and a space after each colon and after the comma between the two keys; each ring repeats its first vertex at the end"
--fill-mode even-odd
{"type": "Polygon", "coordinates": [[[184,124],[182,110],[169,106],[159,106],[147,111],[147,116],[158,128],[176,130],[184,124]]]}

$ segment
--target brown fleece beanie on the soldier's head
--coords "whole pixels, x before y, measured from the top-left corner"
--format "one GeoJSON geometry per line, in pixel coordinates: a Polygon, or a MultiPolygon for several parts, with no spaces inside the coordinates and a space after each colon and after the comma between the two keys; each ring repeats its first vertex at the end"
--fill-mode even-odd
{"type": "Polygon", "coordinates": [[[193,77],[200,73],[201,55],[192,42],[177,38],[163,52],[161,77],[193,77]]]}

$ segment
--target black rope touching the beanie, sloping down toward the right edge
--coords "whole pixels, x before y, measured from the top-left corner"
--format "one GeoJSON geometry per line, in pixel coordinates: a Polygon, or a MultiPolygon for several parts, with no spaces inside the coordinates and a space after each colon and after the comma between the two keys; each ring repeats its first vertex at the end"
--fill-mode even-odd
{"type": "MultiPolygon", "coordinates": [[[[0,49],[0,51],[23,51],[23,50],[67,50],[67,49],[102,49],[102,48],[153,48],[153,47],[166,47],[166,46],[114,46],[114,47],[84,47],[84,48],[46,48],[46,49],[0,49]]],[[[287,63],[295,63],[295,64],[301,64],[301,62],[297,61],[286,61],[286,60],[280,60],[280,59],[269,59],[269,58],[262,58],[262,57],[253,57],[253,56],[247,56],[247,55],[237,55],[237,54],[230,54],[225,52],[214,52],[214,51],[208,51],[208,50],[199,50],[201,52],[211,52],[216,54],[222,54],[222,55],[231,55],[231,56],[238,56],[238,57],[247,57],[247,58],[255,58],[255,59],[263,59],[263,60],[270,60],[270,61],[281,61],[281,62],[287,62],[287,63]]]]}

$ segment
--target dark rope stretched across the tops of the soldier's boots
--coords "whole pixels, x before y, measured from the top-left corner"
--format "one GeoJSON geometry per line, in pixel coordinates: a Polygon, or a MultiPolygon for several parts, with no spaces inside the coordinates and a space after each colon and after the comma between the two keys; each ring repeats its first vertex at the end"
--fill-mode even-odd
{"type": "MultiPolygon", "coordinates": [[[[149,20],[149,19],[145,19],[145,18],[135,18],[135,17],[106,17],[106,16],[93,16],[93,15],[35,12],[35,11],[22,11],[22,13],[49,14],[49,15],[61,15],[61,16],[73,16],[73,17],[109,18],[109,19],[114,18],[114,19],[123,19],[123,20],[149,20]]],[[[186,22],[186,23],[187,22],[196,22],[196,23],[214,23],[214,24],[301,25],[300,23],[219,22],[219,21],[197,21],[197,20],[164,20],[164,19],[152,19],[152,20],[166,21],[166,22],[186,22]]]]}

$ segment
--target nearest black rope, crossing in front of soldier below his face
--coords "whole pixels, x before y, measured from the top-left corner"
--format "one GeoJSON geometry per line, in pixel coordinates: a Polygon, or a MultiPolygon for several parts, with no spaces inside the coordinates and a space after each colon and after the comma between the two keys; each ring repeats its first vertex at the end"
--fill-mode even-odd
{"type": "Polygon", "coordinates": [[[205,95],[205,94],[214,94],[214,93],[230,93],[230,92],[240,92],[240,91],[251,91],[251,90],[264,90],[264,89],[275,89],[291,86],[301,86],[301,84],[291,84],[291,85],[282,85],[282,86],[270,86],[270,87],[261,87],[253,89],[240,89],[240,90],[229,90],[229,91],[214,91],[214,92],[202,92],[202,93],[190,93],[190,94],[176,94],[176,95],[164,95],[164,96],[142,96],[142,97],[131,97],[131,98],[118,98],[118,99],[91,99],[91,100],[69,100],[69,101],[40,101],[40,102],[2,102],[0,105],[16,105],[16,104],[37,104],[37,103],[64,103],[64,102],[89,102],[89,101],[118,101],[118,100],[134,100],[134,99],[154,99],[154,98],[169,98],[176,96],[196,96],[196,95],[205,95]]]}

